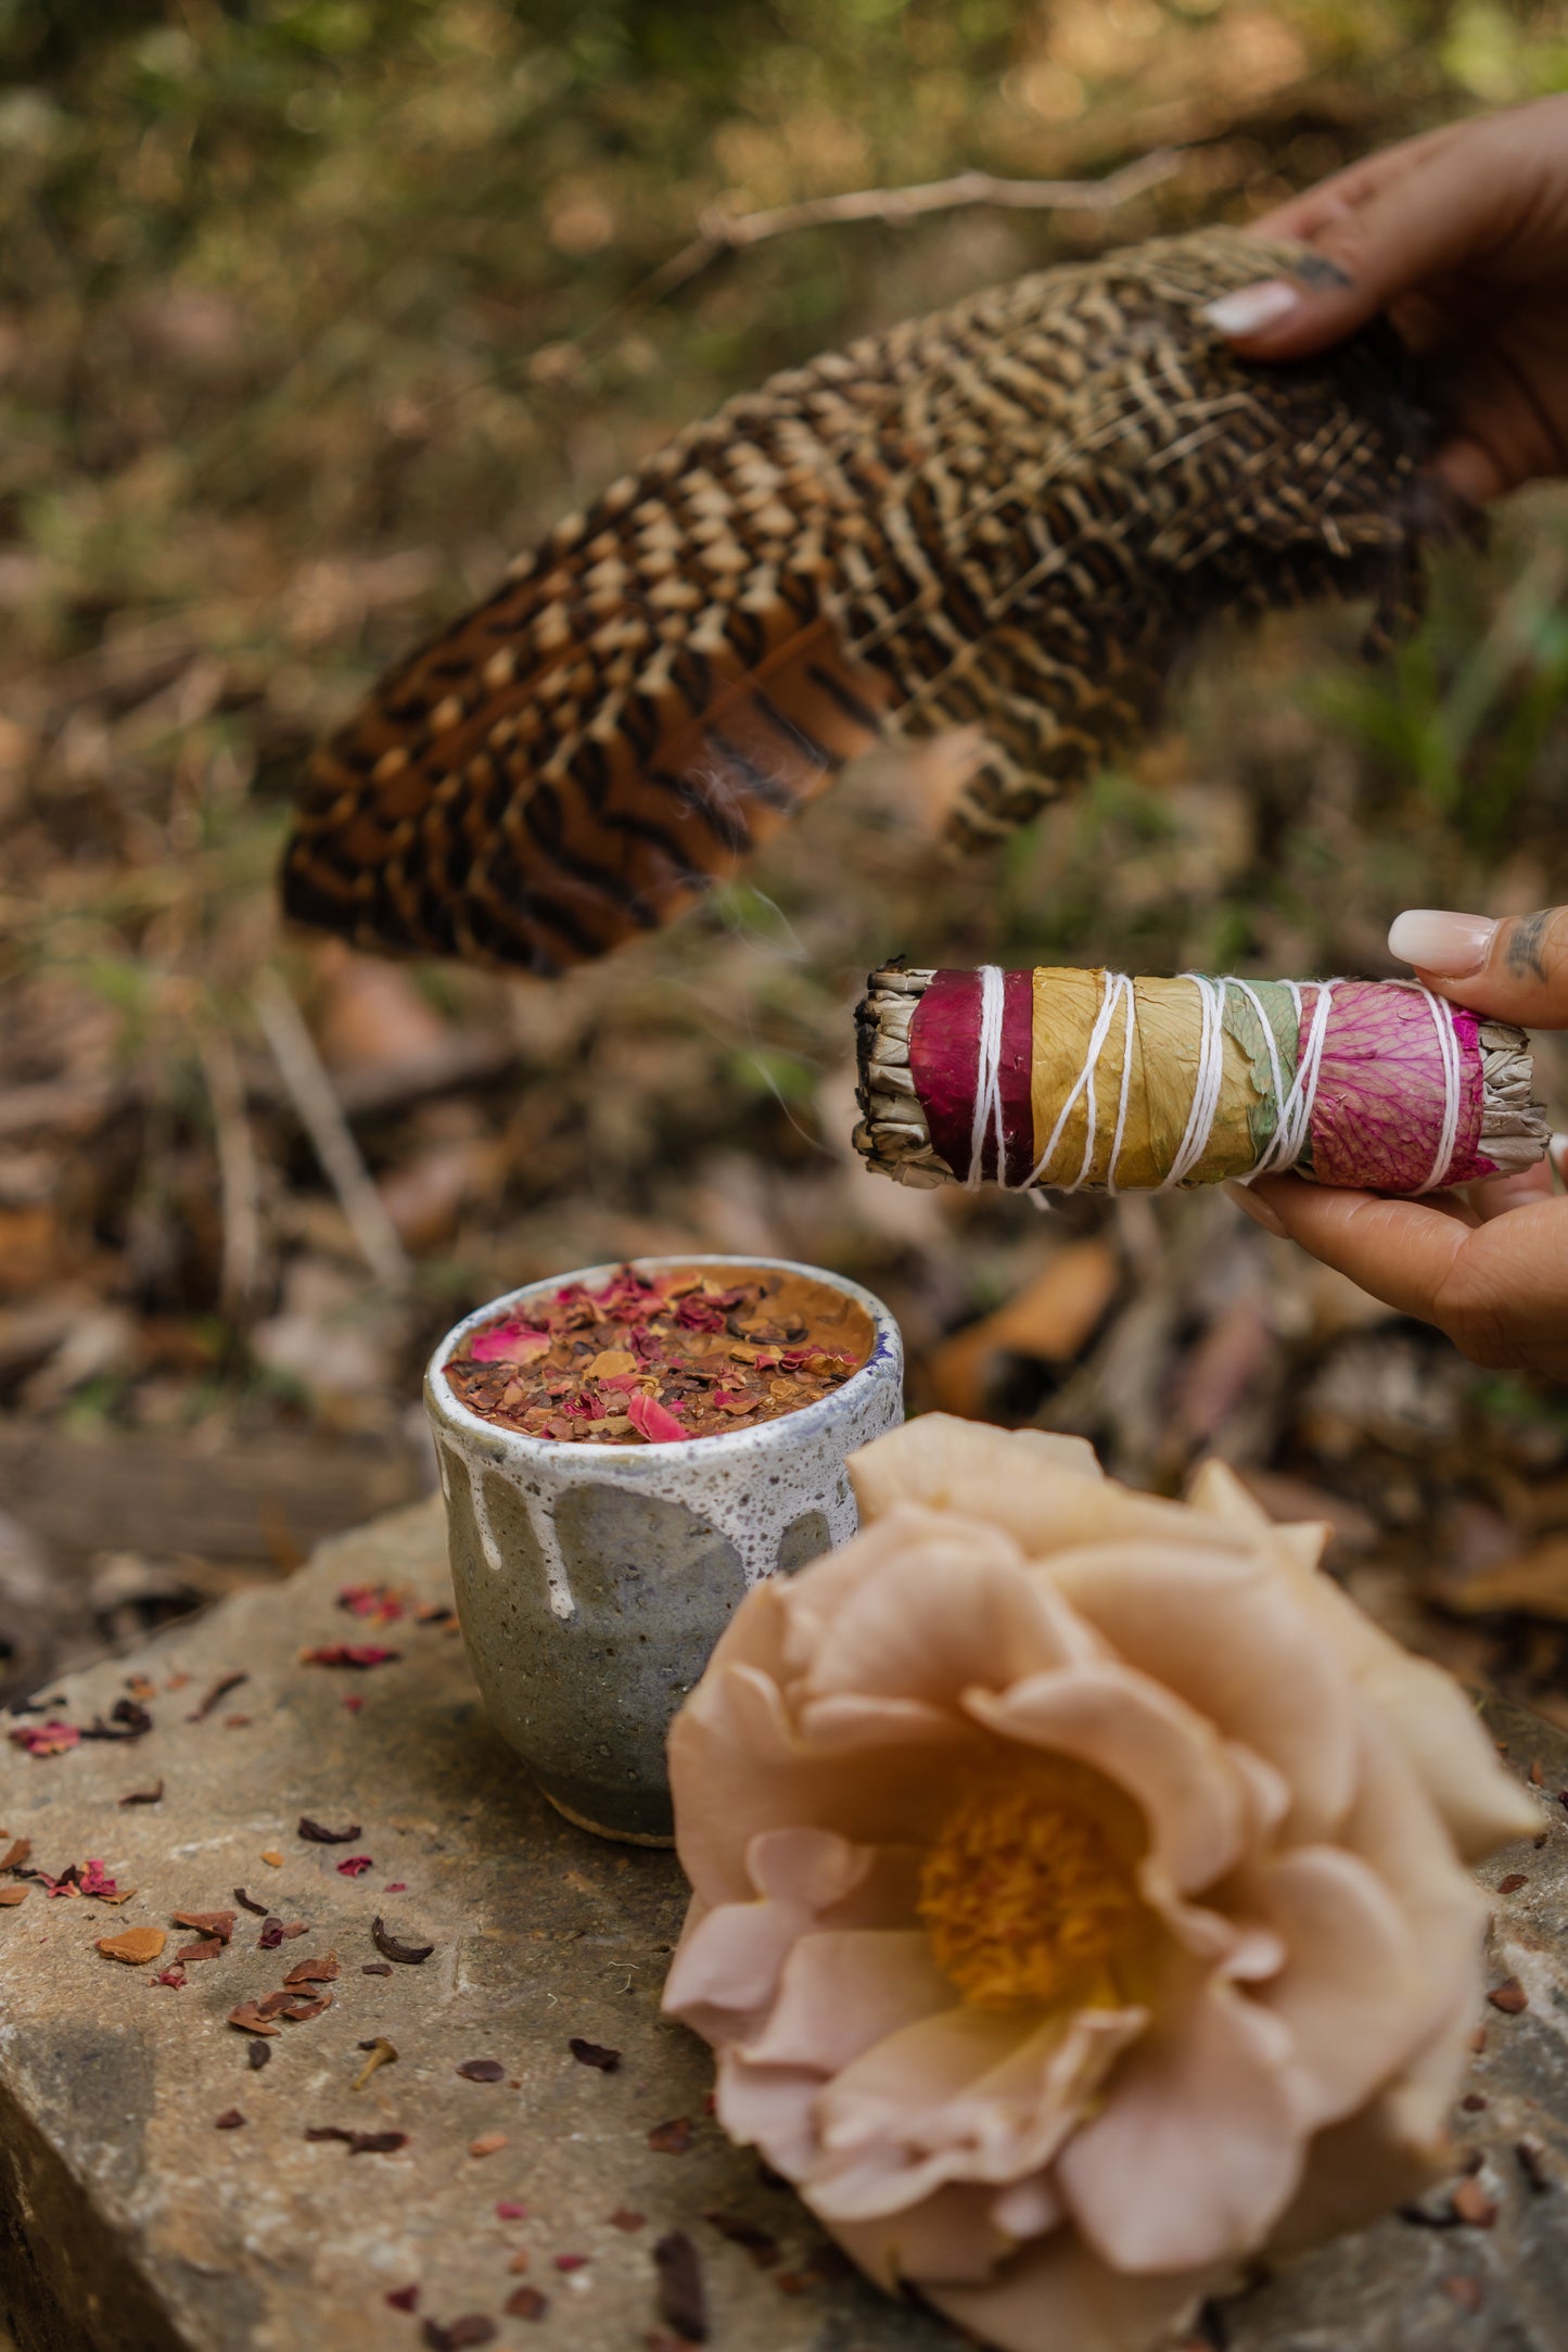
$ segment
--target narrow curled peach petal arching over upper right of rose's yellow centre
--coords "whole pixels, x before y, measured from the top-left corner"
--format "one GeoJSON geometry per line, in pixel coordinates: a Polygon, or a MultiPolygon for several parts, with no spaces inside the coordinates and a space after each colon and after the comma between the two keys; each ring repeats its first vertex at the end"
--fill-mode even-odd
{"type": "Polygon", "coordinates": [[[1220,1736],[1152,1675],[1114,1661],[966,1691],[987,1731],[1091,1764],[1150,1823],[1150,1856],[1180,1893],[1211,1886],[1241,1853],[1246,1799],[1220,1736]]]}

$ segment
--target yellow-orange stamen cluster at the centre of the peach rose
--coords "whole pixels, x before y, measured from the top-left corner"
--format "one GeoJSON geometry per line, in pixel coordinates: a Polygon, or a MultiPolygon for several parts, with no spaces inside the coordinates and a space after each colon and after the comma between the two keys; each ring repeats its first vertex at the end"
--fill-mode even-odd
{"type": "Polygon", "coordinates": [[[1143,1813],[1103,1773],[1009,1748],[959,1788],[919,1875],[919,1917],[976,2009],[1135,1999],[1157,1922],[1143,1813]]]}

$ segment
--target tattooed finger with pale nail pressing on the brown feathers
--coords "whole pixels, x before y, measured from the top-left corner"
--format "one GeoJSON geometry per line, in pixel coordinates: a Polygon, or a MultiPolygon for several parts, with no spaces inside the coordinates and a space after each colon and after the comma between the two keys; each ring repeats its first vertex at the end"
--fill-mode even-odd
{"type": "MultiPolygon", "coordinates": [[[[1352,202],[1319,191],[1302,214],[1307,259],[1291,275],[1222,294],[1206,318],[1260,360],[1295,360],[1338,343],[1434,273],[1490,252],[1512,226],[1516,183],[1497,158],[1497,127],[1472,125],[1352,202]]],[[[1502,134],[1507,139],[1507,132],[1502,134]]],[[[1298,228],[1298,235],[1302,230],[1298,228]]]]}

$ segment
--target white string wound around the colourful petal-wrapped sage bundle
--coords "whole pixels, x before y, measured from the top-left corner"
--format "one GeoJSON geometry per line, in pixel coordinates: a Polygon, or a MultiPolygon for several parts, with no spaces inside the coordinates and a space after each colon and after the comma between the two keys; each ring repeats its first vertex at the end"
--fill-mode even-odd
{"type": "MultiPolygon", "coordinates": [[[[1251,981],[1237,978],[1208,978],[1201,971],[1185,971],[1185,981],[1199,993],[1199,1056],[1197,1077],[1192,1082],[1192,1108],[1187,1112],[1187,1127],[1175,1145],[1175,1157],[1168,1174],[1161,1178],[1161,1192],[1180,1185],[1194,1167],[1204,1162],[1213,1143],[1213,1127],[1220,1112],[1220,1091],[1225,1082],[1225,993],[1237,988],[1258,1016],[1258,1028],[1262,1030],[1262,1044],[1269,1058],[1269,1084],[1274,1094],[1274,1134],[1269,1136],[1258,1167],[1248,1169],[1239,1183],[1255,1183],[1258,1176],[1276,1176],[1284,1169],[1295,1167],[1309,1141],[1312,1141],[1312,1112],[1316,1105],[1319,1077],[1324,1070],[1324,1044],[1328,1040],[1328,1014],[1333,1009],[1333,990],[1338,981],[1314,981],[1312,1014],[1305,1014],[1302,983],[1284,981],[1291,990],[1291,1002],[1295,1007],[1295,1075],[1286,1087],[1284,1065],[1279,1058],[1279,1042],[1262,1009],[1262,997],[1251,981]]],[[[1436,1152],[1432,1160],[1432,1174],[1420,1185],[1422,1192],[1434,1192],[1448,1178],[1453,1164],[1453,1152],[1460,1136],[1460,1112],[1465,1108],[1465,1063],[1460,1056],[1460,1040],[1453,1030],[1453,1011],[1420,981],[1396,981],[1396,988],[1415,988],[1427,1000],[1432,1014],[1432,1025],[1436,1028],[1439,1054],[1443,1058],[1443,1120],[1439,1129],[1436,1152]]],[[[1084,1068],[1074,1077],[1063,1108],[1058,1110],[1056,1124],[1046,1138],[1046,1148],[1039,1160],[1023,1178],[1020,1185],[1011,1185],[1006,1178],[1006,1129],[1004,1129],[1004,1103],[1001,1103],[1001,1014],[1004,1014],[1004,976],[999,964],[980,967],[980,1040],[976,1061],[976,1108],[969,1134],[969,1185],[976,1188],[983,1181],[985,1138],[987,1134],[997,1145],[997,1183],[1009,1190],[1041,1188],[1046,1169],[1056,1157],[1060,1141],[1067,1131],[1067,1120],[1084,1101],[1084,1157],[1072,1183],[1056,1178],[1048,1190],[1053,1192],[1079,1192],[1088,1183],[1088,1174],[1095,1164],[1100,1105],[1095,1096],[1095,1075],[1100,1068],[1100,1056],[1117,1021],[1117,1009],[1124,1007],[1121,1028],[1121,1089],[1117,1098],[1117,1124],[1110,1143],[1110,1160],[1105,1164],[1105,1190],[1117,1192],[1117,1164],[1121,1160],[1121,1143],[1126,1138],[1126,1110],[1128,1091],[1133,1077],[1133,1028],[1135,1028],[1135,1000],[1133,983],[1126,971],[1105,971],[1100,990],[1100,1009],[1095,1014],[1093,1028],[1088,1033],[1088,1047],[1084,1051],[1084,1068]]]]}

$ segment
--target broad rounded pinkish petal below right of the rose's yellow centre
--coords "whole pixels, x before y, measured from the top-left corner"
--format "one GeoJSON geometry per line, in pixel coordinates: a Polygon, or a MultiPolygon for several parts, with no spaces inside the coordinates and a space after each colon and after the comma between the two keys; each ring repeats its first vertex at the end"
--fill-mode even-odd
{"type": "Polygon", "coordinates": [[[1279,2018],[1204,1983],[1131,2051],[1056,2185],[1114,2270],[1175,2272],[1262,2244],[1302,2176],[1305,2133],[1279,2018]]]}

